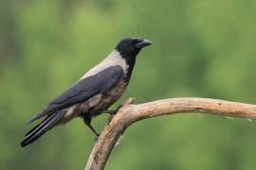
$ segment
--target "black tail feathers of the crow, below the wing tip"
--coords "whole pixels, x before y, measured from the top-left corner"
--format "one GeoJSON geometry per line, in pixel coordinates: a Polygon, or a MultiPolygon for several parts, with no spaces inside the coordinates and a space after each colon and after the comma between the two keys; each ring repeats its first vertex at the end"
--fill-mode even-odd
{"type": "Polygon", "coordinates": [[[53,127],[60,118],[63,117],[65,111],[60,110],[58,112],[54,112],[46,117],[39,125],[33,127],[26,134],[25,140],[21,143],[21,146],[25,147],[27,144],[32,144],[38,138],[40,138],[43,134],[46,133],[51,127],[53,127]]]}

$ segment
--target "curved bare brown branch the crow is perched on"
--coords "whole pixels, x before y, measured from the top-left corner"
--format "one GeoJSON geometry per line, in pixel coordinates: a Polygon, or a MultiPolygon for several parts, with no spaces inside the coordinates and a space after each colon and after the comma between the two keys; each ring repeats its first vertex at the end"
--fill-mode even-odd
{"type": "Polygon", "coordinates": [[[203,112],[247,119],[256,118],[256,105],[225,100],[171,98],[139,105],[134,105],[134,100],[129,98],[115,114],[110,124],[104,127],[84,170],[102,170],[124,130],[142,119],[182,112],[203,112]]]}

